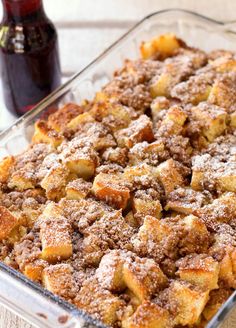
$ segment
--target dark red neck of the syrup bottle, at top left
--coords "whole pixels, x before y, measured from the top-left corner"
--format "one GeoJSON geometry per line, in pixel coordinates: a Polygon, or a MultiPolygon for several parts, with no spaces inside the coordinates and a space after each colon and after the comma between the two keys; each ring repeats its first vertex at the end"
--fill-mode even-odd
{"type": "Polygon", "coordinates": [[[16,22],[45,16],[42,0],[2,0],[4,18],[16,22]]]}

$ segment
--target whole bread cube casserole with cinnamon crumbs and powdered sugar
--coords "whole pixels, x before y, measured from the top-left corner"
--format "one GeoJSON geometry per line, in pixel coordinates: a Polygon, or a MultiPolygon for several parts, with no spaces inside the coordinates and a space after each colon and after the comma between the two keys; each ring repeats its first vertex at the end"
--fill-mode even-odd
{"type": "Polygon", "coordinates": [[[140,49],[0,161],[0,260],[114,328],[202,327],[236,288],[236,57],[140,49]]]}

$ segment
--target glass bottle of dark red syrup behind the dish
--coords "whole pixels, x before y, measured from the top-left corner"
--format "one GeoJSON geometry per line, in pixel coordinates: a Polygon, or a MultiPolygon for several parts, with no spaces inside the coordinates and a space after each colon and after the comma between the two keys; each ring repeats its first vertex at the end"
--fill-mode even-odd
{"type": "Polygon", "coordinates": [[[21,116],[61,83],[57,33],[42,0],[2,0],[0,72],[8,110],[21,116]]]}

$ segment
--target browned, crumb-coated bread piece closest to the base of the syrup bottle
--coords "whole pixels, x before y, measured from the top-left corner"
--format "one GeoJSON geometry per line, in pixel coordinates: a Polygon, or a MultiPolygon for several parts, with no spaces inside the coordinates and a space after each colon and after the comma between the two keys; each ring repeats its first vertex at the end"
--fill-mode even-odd
{"type": "Polygon", "coordinates": [[[73,103],[68,103],[62,108],[57,109],[57,111],[48,117],[49,126],[60,132],[65,129],[69,122],[71,122],[79,114],[82,114],[84,108],[73,103]]]}

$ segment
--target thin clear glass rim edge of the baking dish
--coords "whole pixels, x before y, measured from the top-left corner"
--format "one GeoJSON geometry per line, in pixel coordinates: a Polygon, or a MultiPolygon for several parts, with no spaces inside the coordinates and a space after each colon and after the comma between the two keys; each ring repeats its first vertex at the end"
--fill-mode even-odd
{"type": "MultiPolygon", "coordinates": [[[[222,27],[222,32],[230,32],[236,35],[236,31],[232,30],[230,27],[233,25],[234,21],[228,21],[223,22],[220,20],[216,20],[210,17],[207,17],[205,15],[199,14],[197,12],[187,10],[187,9],[179,9],[179,8],[169,8],[169,9],[163,9],[159,11],[155,11],[147,16],[145,16],[143,19],[141,19],[139,22],[137,22],[133,27],[128,29],[127,32],[125,32],[120,38],[118,38],[115,42],[113,42],[108,48],[106,48],[99,56],[97,56],[94,60],[92,60],[88,65],[86,65],[82,70],[72,75],[72,77],[64,84],[62,84],[59,88],[57,88],[54,92],[52,92],[49,96],[44,98],[42,101],[40,101],[34,109],[32,109],[30,112],[26,113],[24,116],[19,118],[12,126],[4,130],[0,133],[0,142],[1,139],[6,137],[13,129],[15,130],[18,126],[20,126],[23,123],[26,123],[33,117],[36,117],[41,110],[45,109],[46,106],[48,106],[50,103],[52,103],[54,100],[56,100],[58,97],[62,96],[66,91],[69,90],[70,86],[73,84],[74,81],[76,81],[79,77],[81,77],[84,73],[86,73],[87,70],[91,69],[95,64],[100,62],[105,56],[109,54],[111,50],[114,50],[116,46],[120,44],[121,41],[123,41],[126,37],[128,37],[133,31],[135,31],[138,27],[140,27],[145,21],[151,19],[153,16],[161,15],[169,12],[177,12],[177,13],[183,13],[187,14],[189,16],[193,16],[195,18],[198,18],[202,21],[205,21],[206,23],[211,23],[214,25],[218,25],[222,27]],[[229,26],[229,28],[227,28],[229,26]],[[225,29],[223,29],[225,27],[225,29]]],[[[59,305],[62,309],[67,310],[71,313],[74,317],[80,317],[86,320],[87,323],[93,324],[96,327],[105,328],[106,326],[103,325],[101,322],[94,319],[92,316],[90,316],[87,312],[78,309],[74,305],[70,304],[69,302],[65,301],[64,299],[54,295],[53,293],[49,292],[45,288],[43,288],[41,285],[31,281],[28,279],[25,275],[23,275],[21,272],[7,266],[3,262],[0,262],[0,271],[5,272],[11,277],[14,277],[15,280],[18,282],[24,284],[29,289],[33,290],[34,292],[42,295],[47,300],[50,300],[54,302],[55,304],[59,305]]],[[[229,314],[229,312],[232,310],[232,308],[236,304],[236,291],[233,292],[233,294],[228,298],[228,300],[221,306],[219,311],[216,313],[216,315],[212,318],[212,320],[207,324],[207,328],[216,328],[222,321],[226,318],[226,316],[229,314]]]]}

